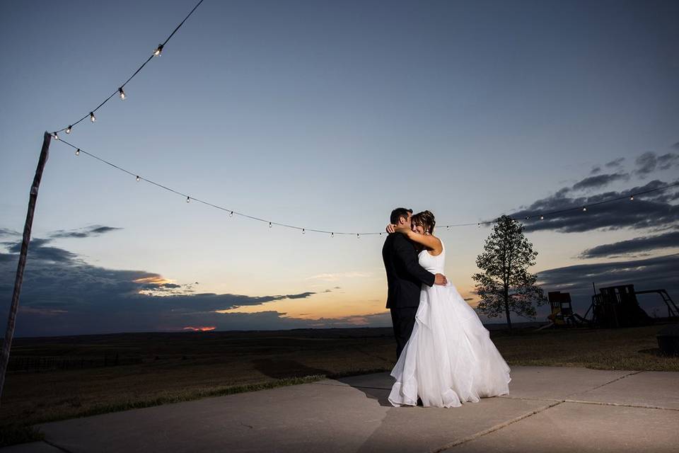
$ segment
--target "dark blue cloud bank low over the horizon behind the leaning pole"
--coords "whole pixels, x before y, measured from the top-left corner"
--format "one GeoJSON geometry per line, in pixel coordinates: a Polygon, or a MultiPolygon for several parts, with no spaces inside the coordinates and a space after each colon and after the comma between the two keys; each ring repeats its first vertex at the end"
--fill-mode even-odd
{"type": "MultiPolygon", "coordinates": [[[[33,239],[30,243],[17,336],[181,331],[186,326],[216,326],[219,330],[298,328],[312,323],[288,319],[278,312],[236,314],[229,310],[284,299],[306,299],[315,292],[264,296],[193,294],[187,292],[193,282],[179,285],[145,270],[98,267],[71,251],[45,246],[49,241],[33,239]]],[[[0,252],[1,319],[8,313],[20,248],[16,242],[3,245],[8,253],[0,252]]],[[[335,321],[313,321],[318,322],[335,321]]],[[[350,321],[342,322],[348,325],[350,321]]]]}

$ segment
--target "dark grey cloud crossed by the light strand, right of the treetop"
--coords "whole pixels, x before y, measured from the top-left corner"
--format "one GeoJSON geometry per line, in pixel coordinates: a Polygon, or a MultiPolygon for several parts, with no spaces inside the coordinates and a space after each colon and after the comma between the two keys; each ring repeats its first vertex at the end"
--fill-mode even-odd
{"type": "Polygon", "coordinates": [[[525,231],[552,230],[571,233],[596,229],[666,229],[679,222],[679,205],[671,203],[679,199],[679,187],[646,193],[634,197],[634,201],[629,201],[629,195],[632,193],[638,194],[665,185],[668,183],[651,180],[645,185],[629,190],[608,191],[581,197],[569,197],[564,195],[569,193],[567,190],[559,190],[555,195],[537,200],[527,208],[513,212],[511,216],[518,219],[530,217],[530,220],[523,222],[525,231]],[[622,197],[622,200],[596,205],[598,202],[617,197],[622,197]],[[586,212],[581,210],[584,206],[588,206],[586,212]],[[540,214],[571,208],[573,210],[550,214],[544,220],[539,219],[540,214]]]}

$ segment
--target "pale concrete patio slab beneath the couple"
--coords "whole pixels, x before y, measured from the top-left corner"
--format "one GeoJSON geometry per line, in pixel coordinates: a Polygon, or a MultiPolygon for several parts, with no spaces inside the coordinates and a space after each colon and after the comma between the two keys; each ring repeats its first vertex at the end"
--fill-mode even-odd
{"type": "Polygon", "coordinates": [[[40,425],[48,452],[677,452],[679,373],[513,367],[510,394],[393,408],[388,373],[40,425]]]}

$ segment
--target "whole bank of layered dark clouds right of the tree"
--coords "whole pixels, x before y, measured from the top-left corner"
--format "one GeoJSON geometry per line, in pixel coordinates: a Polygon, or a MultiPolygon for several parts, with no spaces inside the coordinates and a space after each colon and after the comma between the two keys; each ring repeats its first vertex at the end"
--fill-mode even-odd
{"type": "MultiPolygon", "coordinates": [[[[667,253],[679,248],[679,205],[676,204],[679,187],[637,195],[634,200],[629,200],[632,194],[674,184],[679,180],[654,179],[627,190],[592,193],[593,190],[604,190],[613,183],[627,181],[631,176],[645,178],[655,171],[675,168],[679,164],[679,154],[657,155],[646,152],[634,161],[634,167],[629,172],[623,169],[624,161],[621,157],[603,166],[594,166],[590,176],[511,214],[520,219],[530,217],[522,220],[526,232],[582,233],[626,229],[642,233],[633,239],[601,244],[579,253],[579,258],[584,260],[608,258],[605,263],[584,263],[538,272],[540,285],[545,291],[570,292],[574,309],[580,314],[584,314],[591,304],[592,283],[597,288],[633,284],[638,290],[667,289],[675,302],[679,299],[679,254],[648,258],[663,250],[667,253]],[[613,173],[601,173],[602,168],[613,173]],[[597,202],[617,197],[622,200],[596,205],[597,202]],[[584,206],[588,207],[586,212],[581,210],[584,206]],[[539,219],[540,214],[570,207],[579,209],[539,219]]],[[[644,295],[639,299],[644,309],[649,312],[660,309],[658,316],[663,316],[664,304],[658,296],[644,295]]],[[[547,311],[547,307],[543,307],[538,311],[538,317],[542,318],[547,311]]]]}

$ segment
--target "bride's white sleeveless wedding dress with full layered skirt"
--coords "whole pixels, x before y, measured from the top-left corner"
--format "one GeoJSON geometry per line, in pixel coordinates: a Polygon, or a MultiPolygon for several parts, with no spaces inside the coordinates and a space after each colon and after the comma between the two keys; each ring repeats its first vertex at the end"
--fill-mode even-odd
{"type": "MultiPolygon", "coordinates": [[[[443,245],[443,242],[441,242],[443,245]]],[[[443,273],[446,247],[438,256],[423,250],[419,264],[443,273]]],[[[472,307],[451,282],[422,285],[412,335],[391,375],[393,406],[457,407],[509,393],[509,366],[472,307]]]]}

